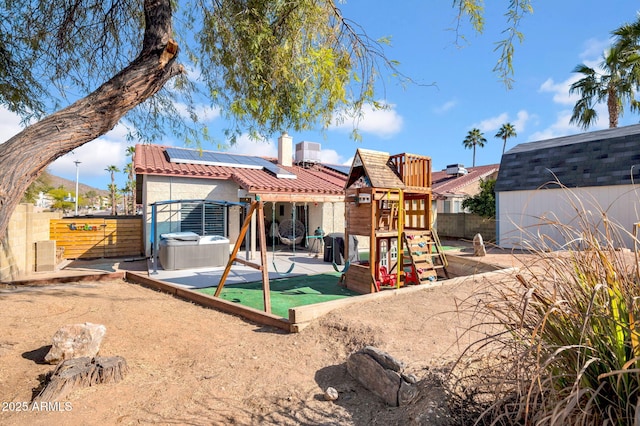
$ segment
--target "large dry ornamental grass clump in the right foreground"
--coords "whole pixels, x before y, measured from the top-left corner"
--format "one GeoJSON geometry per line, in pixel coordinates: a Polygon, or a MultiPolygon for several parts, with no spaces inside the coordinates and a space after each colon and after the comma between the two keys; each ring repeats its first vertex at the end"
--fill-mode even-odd
{"type": "Polygon", "coordinates": [[[638,259],[620,249],[631,230],[573,207],[573,225],[546,219],[562,237],[537,236],[536,261],[461,303],[484,338],[450,376],[460,423],[640,424],[638,259]]]}

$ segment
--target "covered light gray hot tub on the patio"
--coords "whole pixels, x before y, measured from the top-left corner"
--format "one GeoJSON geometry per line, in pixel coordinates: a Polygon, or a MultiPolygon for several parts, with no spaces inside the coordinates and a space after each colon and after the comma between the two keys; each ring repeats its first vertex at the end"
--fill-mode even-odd
{"type": "Polygon", "coordinates": [[[165,270],[218,267],[229,261],[229,240],[219,235],[174,232],[160,238],[158,257],[165,270]]]}

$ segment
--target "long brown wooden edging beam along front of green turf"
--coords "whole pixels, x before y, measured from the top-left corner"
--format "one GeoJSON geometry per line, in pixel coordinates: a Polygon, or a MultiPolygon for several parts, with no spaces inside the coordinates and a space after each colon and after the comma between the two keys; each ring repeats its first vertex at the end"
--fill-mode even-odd
{"type": "Polygon", "coordinates": [[[197,303],[207,308],[218,309],[229,314],[241,316],[258,324],[269,325],[288,332],[293,331],[291,323],[286,318],[281,318],[277,315],[262,312],[238,303],[229,302],[224,299],[220,299],[219,297],[213,297],[197,291],[178,287],[166,281],[155,280],[151,277],[130,271],[127,271],[125,279],[144,287],[169,293],[175,297],[197,303]]]}

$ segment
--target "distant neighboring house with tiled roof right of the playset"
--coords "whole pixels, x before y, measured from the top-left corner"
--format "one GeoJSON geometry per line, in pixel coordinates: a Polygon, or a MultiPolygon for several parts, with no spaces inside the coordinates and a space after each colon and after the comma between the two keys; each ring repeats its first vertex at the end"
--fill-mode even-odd
{"type": "Polygon", "coordinates": [[[499,164],[465,168],[451,164],[446,169],[431,173],[433,203],[438,213],[465,213],[462,202],[480,192],[480,181],[496,179],[499,164]]]}

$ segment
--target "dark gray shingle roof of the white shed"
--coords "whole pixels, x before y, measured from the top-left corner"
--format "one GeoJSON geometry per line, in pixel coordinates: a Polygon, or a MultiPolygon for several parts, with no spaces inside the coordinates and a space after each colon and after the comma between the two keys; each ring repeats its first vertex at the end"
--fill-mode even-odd
{"type": "Polygon", "coordinates": [[[502,156],[496,192],[537,189],[556,177],[569,188],[640,181],[640,124],[517,145],[502,156]]]}

